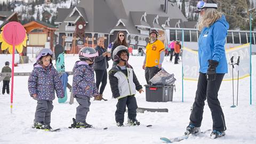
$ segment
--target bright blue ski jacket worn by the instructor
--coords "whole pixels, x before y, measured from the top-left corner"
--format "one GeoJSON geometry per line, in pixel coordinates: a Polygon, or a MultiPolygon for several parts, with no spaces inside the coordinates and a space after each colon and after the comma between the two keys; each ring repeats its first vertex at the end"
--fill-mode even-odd
{"type": "Polygon", "coordinates": [[[198,60],[201,73],[207,72],[208,60],[219,62],[216,69],[217,74],[228,73],[228,63],[224,47],[228,28],[228,22],[225,16],[222,15],[210,27],[205,27],[201,31],[198,39],[198,60]]]}

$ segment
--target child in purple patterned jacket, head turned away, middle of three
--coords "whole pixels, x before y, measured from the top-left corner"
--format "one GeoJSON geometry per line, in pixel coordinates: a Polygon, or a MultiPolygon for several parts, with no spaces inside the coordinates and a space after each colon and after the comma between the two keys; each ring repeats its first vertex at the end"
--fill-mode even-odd
{"type": "MultiPolygon", "coordinates": [[[[76,61],[73,68],[73,95],[79,106],[76,108],[76,119],[73,118],[71,127],[92,127],[86,123],[86,116],[91,105],[90,98],[99,95],[93,71],[93,60],[98,52],[92,47],[83,47],[79,51],[80,61],[76,61]]],[[[70,128],[71,128],[70,127],[70,128]]]]}

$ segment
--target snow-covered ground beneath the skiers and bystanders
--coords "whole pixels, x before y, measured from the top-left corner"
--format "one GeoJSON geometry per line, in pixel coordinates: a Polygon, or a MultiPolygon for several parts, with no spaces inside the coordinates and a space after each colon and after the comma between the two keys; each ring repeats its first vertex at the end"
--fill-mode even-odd
{"type": "MultiPolygon", "coordinates": [[[[11,57],[10,57],[11,58],[11,57]]],[[[66,55],[66,71],[71,71],[74,62],[78,60],[77,55],[66,55]]],[[[169,57],[165,57],[166,60],[169,57]]],[[[2,55],[0,55],[0,66],[3,66],[2,55]]],[[[30,59],[32,59],[30,57],[30,59]]],[[[11,59],[10,59],[11,61],[11,59]]],[[[142,69],[143,57],[131,56],[129,63],[133,66],[135,74],[142,85],[146,84],[144,70],[142,69]]],[[[55,61],[54,61],[55,62],[55,61]]],[[[255,87],[255,62],[256,55],[252,57],[252,87],[255,87]]],[[[109,63],[110,66],[112,62],[109,63]]],[[[162,143],[160,137],[177,137],[182,135],[189,123],[190,107],[194,102],[197,82],[184,81],[184,102],[181,101],[182,82],[181,64],[174,65],[164,61],[163,67],[174,73],[178,81],[175,82],[176,92],[173,93],[172,102],[146,102],[146,93],[137,94],[139,107],[168,108],[169,113],[138,113],[137,119],[140,126],[117,127],[115,123],[115,110],[117,100],[111,99],[109,83],[103,93],[108,101],[93,101],[91,99],[90,112],[87,122],[94,125],[96,129],[68,129],[75,117],[78,103],[69,105],[69,97],[66,103],[53,101],[51,126],[61,128],[60,132],[45,132],[31,129],[36,108],[36,101],[30,98],[27,88],[28,76],[14,77],[13,114],[10,114],[10,95],[0,95],[0,143],[162,143]],[[149,128],[146,125],[152,124],[149,128]],[[103,130],[103,127],[108,127],[103,130]]],[[[15,67],[15,72],[30,72],[33,63],[15,67]]],[[[72,76],[69,76],[69,83],[72,76]]],[[[2,83],[0,84],[2,87],[2,83]]],[[[236,82],[235,82],[236,87],[236,82]]],[[[218,139],[210,139],[210,133],[192,137],[178,143],[256,143],[256,106],[255,89],[252,90],[253,105],[250,105],[250,78],[239,81],[238,107],[230,108],[232,105],[232,82],[222,82],[219,91],[219,100],[223,113],[225,114],[227,131],[226,136],[218,139]]],[[[69,95],[70,93],[68,93],[69,95]]],[[[236,97],[236,89],[235,89],[236,97]]],[[[236,102],[236,99],[235,99],[236,102]]],[[[127,113],[125,114],[125,122],[127,113]]],[[[202,130],[212,129],[212,117],[207,102],[204,108],[202,130]]]]}

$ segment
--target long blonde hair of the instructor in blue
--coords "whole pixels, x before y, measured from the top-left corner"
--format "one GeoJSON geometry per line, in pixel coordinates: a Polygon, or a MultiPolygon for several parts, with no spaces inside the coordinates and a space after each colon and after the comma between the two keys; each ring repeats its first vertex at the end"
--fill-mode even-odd
{"type": "Polygon", "coordinates": [[[210,27],[215,21],[221,18],[222,13],[216,9],[206,9],[204,15],[199,18],[197,28],[201,31],[204,27],[210,27]]]}

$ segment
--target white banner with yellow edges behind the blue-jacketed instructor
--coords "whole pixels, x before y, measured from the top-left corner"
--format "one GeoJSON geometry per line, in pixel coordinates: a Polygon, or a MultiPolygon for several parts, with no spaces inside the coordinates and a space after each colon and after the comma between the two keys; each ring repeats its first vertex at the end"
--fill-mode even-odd
{"type": "MultiPolygon", "coordinates": [[[[230,59],[234,57],[234,79],[237,79],[239,70],[239,79],[250,76],[250,43],[241,46],[236,46],[226,50],[226,58],[228,62],[228,73],[225,74],[223,81],[232,80],[232,65],[230,65],[230,59]],[[239,59],[239,66],[236,65],[237,59],[239,59]]],[[[182,52],[182,65],[183,65],[183,79],[197,81],[199,76],[199,62],[198,52],[183,47],[182,52]]]]}

